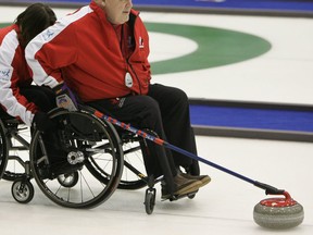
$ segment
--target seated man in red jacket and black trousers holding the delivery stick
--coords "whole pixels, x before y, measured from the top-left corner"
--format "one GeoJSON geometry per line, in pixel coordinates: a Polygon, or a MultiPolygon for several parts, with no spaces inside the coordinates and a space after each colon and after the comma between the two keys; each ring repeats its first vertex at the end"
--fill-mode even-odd
{"type": "MultiPolygon", "coordinates": [[[[38,35],[26,48],[34,81],[73,90],[84,103],[197,153],[188,97],[150,83],[149,36],[132,8],[132,0],[93,0],[38,35]]],[[[164,175],[163,199],[195,193],[211,181],[199,175],[197,161],[153,143],[146,147],[147,174],[164,175]]]]}

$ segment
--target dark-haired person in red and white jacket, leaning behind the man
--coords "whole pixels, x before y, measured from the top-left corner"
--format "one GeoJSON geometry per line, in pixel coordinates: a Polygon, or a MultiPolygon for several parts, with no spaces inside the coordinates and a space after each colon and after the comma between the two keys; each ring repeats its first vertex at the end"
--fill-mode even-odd
{"type": "Polygon", "coordinates": [[[54,92],[32,85],[25,60],[26,45],[40,32],[54,24],[54,12],[35,3],[22,12],[14,24],[0,29],[0,115],[14,116],[40,131],[51,127],[46,112],[55,106],[54,92]]]}

